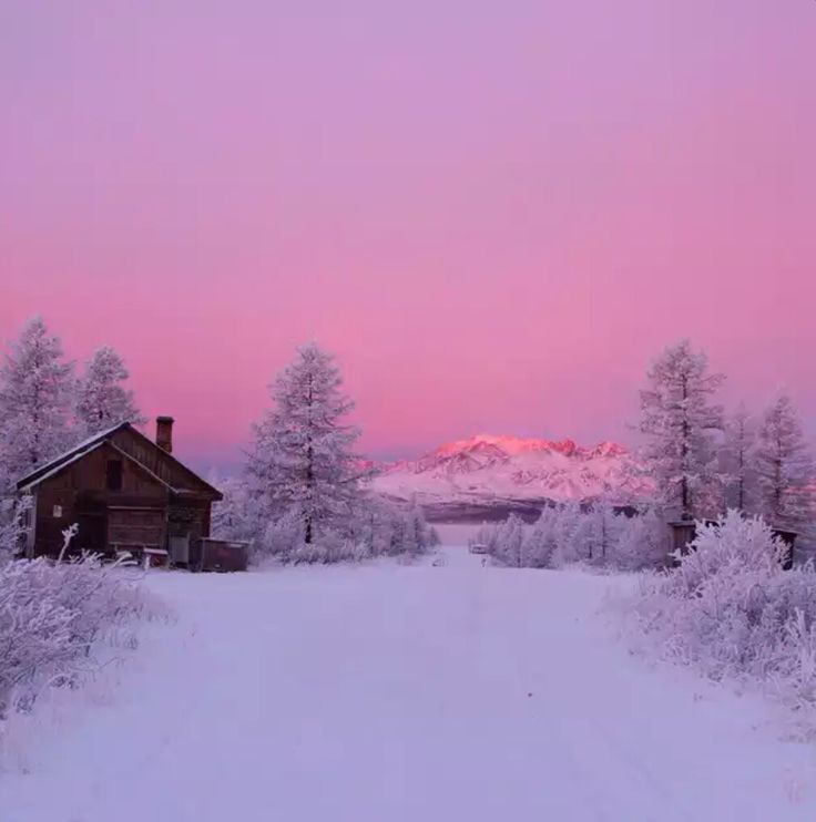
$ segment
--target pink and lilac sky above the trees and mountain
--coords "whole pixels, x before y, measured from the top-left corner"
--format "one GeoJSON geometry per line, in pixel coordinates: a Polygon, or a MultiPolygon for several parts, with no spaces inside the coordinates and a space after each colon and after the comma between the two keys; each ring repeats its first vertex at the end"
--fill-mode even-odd
{"type": "Polygon", "coordinates": [[[364,449],[628,439],[691,337],[816,434],[812,0],[0,4],[0,336],[230,462],[293,346],[364,449]]]}

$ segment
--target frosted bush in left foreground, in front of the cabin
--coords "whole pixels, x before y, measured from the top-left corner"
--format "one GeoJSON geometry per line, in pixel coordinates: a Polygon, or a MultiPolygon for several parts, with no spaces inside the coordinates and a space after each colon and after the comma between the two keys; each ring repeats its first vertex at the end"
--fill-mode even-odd
{"type": "Polygon", "coordinates": [[[84,555],[0,566],[0,718],[101,656],[134,647],[134,620],[162,613],[129,572],[84,555]],[[106,653],[103,651],[106,649],[106,653]]]}

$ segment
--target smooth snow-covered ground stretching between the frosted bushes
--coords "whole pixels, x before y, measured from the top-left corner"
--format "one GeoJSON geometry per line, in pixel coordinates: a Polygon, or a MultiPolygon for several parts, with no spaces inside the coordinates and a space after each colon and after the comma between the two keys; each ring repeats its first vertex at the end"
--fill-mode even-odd
{"type": "Polygon", "coordinates": [[[615,638],[630,578],[445,555],[151,574],[178,621],[0,774],[0,820],[816,819],[768,705],[615,638]]]}

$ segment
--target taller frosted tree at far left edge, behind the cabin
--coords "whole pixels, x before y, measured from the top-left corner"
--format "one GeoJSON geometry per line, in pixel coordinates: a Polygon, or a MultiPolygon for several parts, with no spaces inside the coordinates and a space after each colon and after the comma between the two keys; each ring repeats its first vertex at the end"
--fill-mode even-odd
{"type": "Polygon", "coordinates": [[[40,317],[10,343],[0,367],[0,481],[3,486],[69,444],[73,366],[40,317]]]}

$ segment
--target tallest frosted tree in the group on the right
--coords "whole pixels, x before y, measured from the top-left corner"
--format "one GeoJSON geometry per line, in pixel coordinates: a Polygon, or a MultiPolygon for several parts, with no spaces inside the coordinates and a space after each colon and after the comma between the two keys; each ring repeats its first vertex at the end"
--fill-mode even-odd
{"type": "Polygon", "coordinates": [[[707,357],[688,340],[666,348],[646,376],[640,428],[661,502],[683,517],[711,514],[722,487],[714,432],[723,429],[722,407],[712,398],[725,378],[708,373],[707,357]]]}

